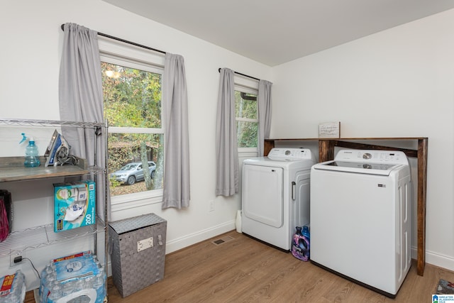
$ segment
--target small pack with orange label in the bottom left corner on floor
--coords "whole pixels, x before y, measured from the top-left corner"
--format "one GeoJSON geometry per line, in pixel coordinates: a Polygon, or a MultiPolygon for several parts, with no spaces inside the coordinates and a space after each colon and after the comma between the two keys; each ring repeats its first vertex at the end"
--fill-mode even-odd
{"type": "Polygon", "coordinates": [[[21,270],[0,278],[0,303],[21,303],[26,297],[26,277],[21,270]]]}

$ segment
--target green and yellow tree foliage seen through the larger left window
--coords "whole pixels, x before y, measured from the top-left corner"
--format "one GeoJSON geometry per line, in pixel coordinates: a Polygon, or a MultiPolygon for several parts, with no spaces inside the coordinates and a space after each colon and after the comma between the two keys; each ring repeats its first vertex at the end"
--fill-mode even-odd
{"type": "MultiPolygon", "coordinates": [[[[111,127],[162,128],[161,75],[101,62],[104,117],[111,127]]],[[[109,168],[118,170],[127,162],[162,162],[162,136],[143,133],[112,133],[109,136],[109,168]],[[152,153],[153,150],[153,153],[152,153]],[[154,157],[154,158],[153,158],[154,157]]],[[[162,167],[157,167],[162,170],[162,167]]],[[[162,175],[162,174],[161,174],[162,175]]],[[[146,174],[145,174],[146,176],[146,174]]],[[[147,189],[162,188],[145,179],[147,189]]],[[[111,186],[115,184],[111,183],[111,186]]]]}

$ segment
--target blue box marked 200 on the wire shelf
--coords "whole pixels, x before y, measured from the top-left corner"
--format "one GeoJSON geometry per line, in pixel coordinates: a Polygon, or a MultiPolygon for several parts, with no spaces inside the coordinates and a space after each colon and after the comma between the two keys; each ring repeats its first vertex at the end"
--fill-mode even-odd
{"type": "Polygon", "coordinates": [[[93,181],[54,184],[54,231],[95,223],[96,190],[93,181]]]}

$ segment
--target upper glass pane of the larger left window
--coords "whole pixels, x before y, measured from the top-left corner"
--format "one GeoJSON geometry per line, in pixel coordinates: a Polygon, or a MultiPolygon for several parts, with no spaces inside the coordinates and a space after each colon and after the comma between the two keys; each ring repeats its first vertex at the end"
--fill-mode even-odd
{"type": "Polygon", "coordinates": [[[109,126],[161,128],[161,75],[101,62],[109,126]]]}

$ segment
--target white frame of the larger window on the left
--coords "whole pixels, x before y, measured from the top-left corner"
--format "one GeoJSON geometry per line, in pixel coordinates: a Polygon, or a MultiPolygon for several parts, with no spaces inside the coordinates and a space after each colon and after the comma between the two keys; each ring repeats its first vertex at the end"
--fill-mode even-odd
{"type": "MultiPolygon", "coordinates": [[[[109,38],[99,37],[99,53],[101,62],[132,67],[147,72],[155,72],[163,76],[165,57],[144,48],[128,45],[109,38]]],[[[163,79],[163,77],[162,77],[163,79]]],[[[162,101],[162,100],[161,100],[162,101]]],[[[161,106],[164,111],[165,106],[161,106]]],[[[109,133],[148,133],[162,134],[165,141],[165,114],[161,111],[161,128],[111,127],[109,133]]],[[[109,121],[108,121],[109,122],[109,121]]],[[[164,159],[165,161],[165,159],[164,159]]],[[[121,211],[150,204],[162,203],[164,189],[153,189],[133,194],[111,197],[112,211],[121,211]]]]}

